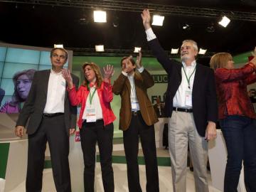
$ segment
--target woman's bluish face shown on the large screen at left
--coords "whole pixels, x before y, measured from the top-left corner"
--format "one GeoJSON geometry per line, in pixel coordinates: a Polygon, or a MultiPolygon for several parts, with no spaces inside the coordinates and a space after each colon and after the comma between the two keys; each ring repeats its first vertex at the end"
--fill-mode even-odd
{"type": "Polygon", "coordinates": [[[31,88],[31,80],[28,79],[27,75],[21,75],[18,77],[16,81],[16,90],[18,95],[23,99],[26,100],[28,97],[28,92],[31,88]]]}

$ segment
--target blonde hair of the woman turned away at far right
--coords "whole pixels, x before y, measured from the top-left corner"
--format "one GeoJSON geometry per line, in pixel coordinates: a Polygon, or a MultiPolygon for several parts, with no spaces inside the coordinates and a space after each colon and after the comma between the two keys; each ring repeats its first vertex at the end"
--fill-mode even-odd
{"type": "Polygon", "coordinates": [[[216,53],[210,58],[210,68],[216,70],[218,68],[225,68],[228,60],[232,60],[230,53],[216,53]]]}

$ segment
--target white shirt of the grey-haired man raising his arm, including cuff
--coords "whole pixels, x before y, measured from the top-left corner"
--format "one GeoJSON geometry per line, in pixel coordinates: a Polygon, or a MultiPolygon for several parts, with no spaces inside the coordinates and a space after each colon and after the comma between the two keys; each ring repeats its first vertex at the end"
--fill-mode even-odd
{"type": "MultiPolygon", "coordinates": [[[[152,31],[152,28],[149,28],[146,30],[146,40],[151,41],[154,38],[156,38],[156,35],[152,31]]],[[[193,80],[195,78],[196,74],[196,60],[193,60],[190,66],[186,66],[184,62],[182,62],[183,68],[181,68],[181,85],[179,85],[178,90],[176,94],[174,95],[174,107],[180,107],[180,108],[191,108],[186,106],[186,91],[193,91],[193,80]],[[183,70],[184,69],[184,70],[183,70]],[[193,70],[195,70],[193,72],[193,70]],[[188,80],[186,79],[186,75],[184,73],[186,72],[187,77],[191,77],[189,81],[189,87],[188,88],[188,80]],[[193,73],[193,74],[192,74],[193,73]],[[192,75],[191,75],[192,74],[192,75]]]]}

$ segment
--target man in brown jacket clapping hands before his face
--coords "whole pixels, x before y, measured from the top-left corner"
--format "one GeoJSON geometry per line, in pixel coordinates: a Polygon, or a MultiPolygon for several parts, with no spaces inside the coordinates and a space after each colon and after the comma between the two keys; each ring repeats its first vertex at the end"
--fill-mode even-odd
{"type": "Polygon", "coordinates": [[[137,62],[132,56],[122,58],[122,73],[114,81],[113,92],[121,96],[119,129],[124,135],[124,151],[127,159],[129,191],[140,192],[139,165],[137,161],[139,137],[146,164],[146,191],[159,191],[159,176],[156,160],[154,123],[158,121],[146,90],[154,80],[141,63],[142,53],[137,62]],[[137,66],[136,66],[137,65],[137,66]],[[136,70],[137,67],[137,70],[136,70]]]}

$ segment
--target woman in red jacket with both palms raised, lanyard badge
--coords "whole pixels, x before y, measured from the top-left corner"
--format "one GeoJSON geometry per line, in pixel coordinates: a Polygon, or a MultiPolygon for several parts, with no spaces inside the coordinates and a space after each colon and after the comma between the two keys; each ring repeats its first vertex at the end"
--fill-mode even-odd
{"type": "Polygon", "coordinates": [[[95,146],[100,150],[100,164],[104,191],[114,192],[114,176],[112,169],[112,140],[114,132],[114,113],[111,110],[112,85],[110,78],[113,66],[104,68],[104,79],[100,68],[95,63],[82,65],[85,81],[78,92],[75,90],[70,71],[63,70],[63,77],[68,82],[68,96],[71,105],[82,105],[78,119],[80,139],[85,164],[85,192],[94,191],[95,183],[95,146]]]}

